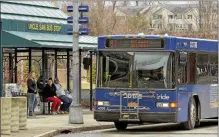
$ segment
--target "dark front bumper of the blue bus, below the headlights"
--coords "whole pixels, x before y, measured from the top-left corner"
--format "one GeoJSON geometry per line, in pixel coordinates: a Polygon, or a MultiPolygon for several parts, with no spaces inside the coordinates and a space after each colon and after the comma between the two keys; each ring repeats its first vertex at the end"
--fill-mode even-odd
{"type": "MultiPolygon", "coordinates": [[[[101,112],[94,111],[94,119],[96,121],[115,122],[119,121],[119,112],[101,112]]],[[[152,123],[176,123],[177,113],[176,112],[139,112],[139,120],[141,122],[152,122],[152,123]]]]}

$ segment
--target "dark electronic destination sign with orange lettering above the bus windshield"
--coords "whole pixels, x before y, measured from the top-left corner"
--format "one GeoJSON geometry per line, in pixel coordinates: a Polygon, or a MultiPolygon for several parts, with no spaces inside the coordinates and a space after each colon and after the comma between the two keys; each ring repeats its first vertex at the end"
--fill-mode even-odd
{"type": "Polygon", "coordinates": [[[107,39],[106,48],[164,48],[163,39],[107,39]]]}

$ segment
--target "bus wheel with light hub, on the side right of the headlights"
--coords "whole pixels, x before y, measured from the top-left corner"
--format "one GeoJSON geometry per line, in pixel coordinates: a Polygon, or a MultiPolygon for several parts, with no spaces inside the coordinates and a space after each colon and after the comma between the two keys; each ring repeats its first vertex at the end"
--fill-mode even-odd
{"type": "Polygon", "coordinates": [[[182,126],[186,130],[192,130],[195,128],[197,119],[197,109],[196,109],[196,103],[193,97],[190,98],[189,101],[189,108],[188,108],[188,121],[185,123],[182,123],[182,126]]]}

